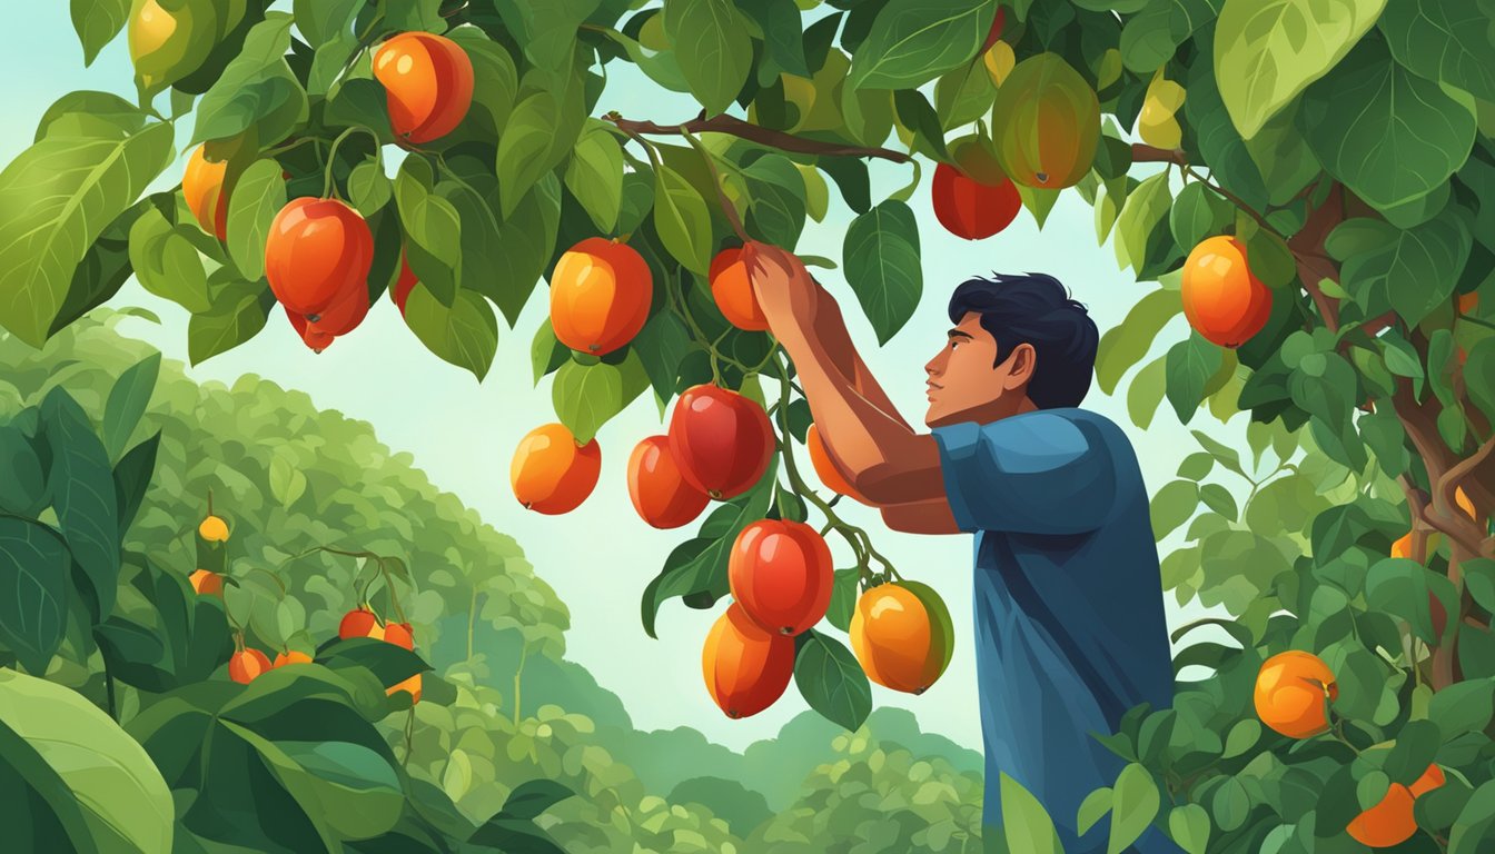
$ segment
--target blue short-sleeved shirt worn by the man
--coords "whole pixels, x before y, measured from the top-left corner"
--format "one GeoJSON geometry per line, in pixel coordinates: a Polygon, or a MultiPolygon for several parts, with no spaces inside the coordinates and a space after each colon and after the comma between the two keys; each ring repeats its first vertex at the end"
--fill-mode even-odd
{"type": "MultiPolygon", "coordinates": [[[[934,440],[955,522],[976,534],[984,824],[1002,824],[1005,772],[1048,809],[1066,854],[1103,853],[1109,820],[1079,838],[1075,817],[1126,763],[1090,733],[1174,697],[1136,453],[1121,428],[1078,408],[951,425],[934,440]]],[[[1156,829],[1135,850],[1178,851],[1156,829]]]]}

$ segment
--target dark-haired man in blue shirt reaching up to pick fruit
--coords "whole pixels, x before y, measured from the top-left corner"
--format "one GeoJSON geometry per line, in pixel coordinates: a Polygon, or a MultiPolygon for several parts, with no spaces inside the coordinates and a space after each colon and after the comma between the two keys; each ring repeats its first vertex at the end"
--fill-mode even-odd
{"type": "MultiPolygon", "coordinates": [[[[919,434],[794,254],[749,244],[743,259],[833,464],[890,528],[976,535],[984,823],[1002,823],[1003,772],[1049,811],[1066,853],[1105,851],[1106,823],[1079,838],[1076,812],[1123,761],[1091,733],[1138,703],[1169,706],[1174,673],[1136,455],[1115,423],[1075,408],[1094,322],[1045,275],[961,284],[924,366],[933,435],[919,434]]],[[[1178,851],[1156,830],[1135,850],[1178,851]]]]}

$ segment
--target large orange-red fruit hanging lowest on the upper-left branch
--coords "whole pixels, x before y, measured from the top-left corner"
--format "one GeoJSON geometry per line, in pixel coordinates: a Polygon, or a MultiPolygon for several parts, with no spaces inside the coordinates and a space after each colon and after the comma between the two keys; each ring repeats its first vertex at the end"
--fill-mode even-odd
{"type": "Polygon", "coordinates": [[[354,290],[368,299],[372,265],[368,223],[336,199],[293,199],[275,214],[265,241],[265,278],[275,299],[306,320],[354,290]]]}

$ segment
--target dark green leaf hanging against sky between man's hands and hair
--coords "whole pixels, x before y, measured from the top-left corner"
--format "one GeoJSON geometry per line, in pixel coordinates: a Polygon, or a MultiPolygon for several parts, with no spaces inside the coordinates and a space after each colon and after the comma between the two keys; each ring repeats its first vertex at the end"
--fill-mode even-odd
{"type": "Polygon", "coordinates": [[[924,290],[913,211],[890,199],[857,217],[846,229],[842,257],[878,344],[887,344],[913,316],[924,290]]]}

